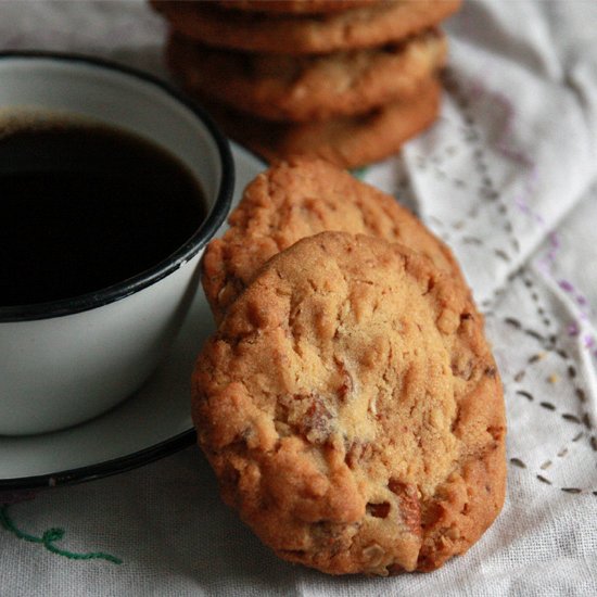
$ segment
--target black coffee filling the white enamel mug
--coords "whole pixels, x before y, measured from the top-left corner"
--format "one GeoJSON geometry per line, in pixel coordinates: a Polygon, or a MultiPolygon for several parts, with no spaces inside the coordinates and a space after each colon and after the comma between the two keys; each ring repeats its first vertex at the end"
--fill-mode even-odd
{"type": "Polygon", "coordinates": [[[0,131],[0,306],[124,281],[205,215],[186,166],[134,135],[74,122],[0,131]]]}

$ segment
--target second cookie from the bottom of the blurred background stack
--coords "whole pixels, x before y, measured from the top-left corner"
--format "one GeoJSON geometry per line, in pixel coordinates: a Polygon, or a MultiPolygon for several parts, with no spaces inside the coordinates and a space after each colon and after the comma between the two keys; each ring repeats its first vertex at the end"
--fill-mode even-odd
{"type": "Polygon", "coordinates": [[[191,93],[262,118],[309,122],[412,98],[443,66],[446,49],[439,31],[404,43],[315,56],[229,52],[174,35],[167,62],[191,93]]]}

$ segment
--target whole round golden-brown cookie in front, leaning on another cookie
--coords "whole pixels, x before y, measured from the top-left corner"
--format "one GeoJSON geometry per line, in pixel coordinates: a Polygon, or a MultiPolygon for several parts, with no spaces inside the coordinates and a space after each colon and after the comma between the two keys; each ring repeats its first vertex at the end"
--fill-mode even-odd
{"type": "Polygon", "coordinates": [[[272,257],[193,373],[227,504],[331,574],[433,570],[505,494],[501,385],[469,295],[398,244],[343,232],[272,257]]]}

